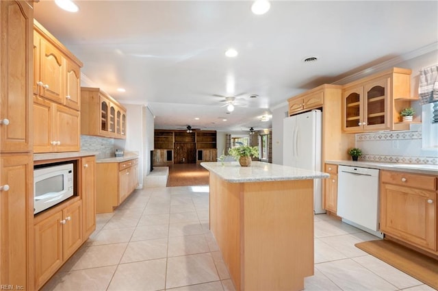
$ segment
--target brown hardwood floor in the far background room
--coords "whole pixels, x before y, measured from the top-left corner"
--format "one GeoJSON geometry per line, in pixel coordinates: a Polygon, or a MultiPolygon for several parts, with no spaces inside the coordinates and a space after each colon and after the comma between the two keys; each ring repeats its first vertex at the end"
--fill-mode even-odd
{"type": "Polygon", "coordinates": [[[208,185],[209,172],[200,164],[172,164],[169,166],[167,187],[208,185]]]}

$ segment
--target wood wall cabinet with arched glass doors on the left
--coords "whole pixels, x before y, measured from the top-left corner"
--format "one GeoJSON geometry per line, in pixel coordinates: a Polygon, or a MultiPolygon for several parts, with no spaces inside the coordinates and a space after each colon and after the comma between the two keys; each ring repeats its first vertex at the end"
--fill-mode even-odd
{"type": "Polygon", "coordinates": [[[81,134],[126,138],[126,109],[99,88],[81,88],[81,134]]]}

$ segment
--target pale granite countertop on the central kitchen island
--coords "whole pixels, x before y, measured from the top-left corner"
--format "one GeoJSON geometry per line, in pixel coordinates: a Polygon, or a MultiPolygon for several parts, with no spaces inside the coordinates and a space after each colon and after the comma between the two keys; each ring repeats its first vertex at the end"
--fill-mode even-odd
{"type": "Polygon", "coordinates": [[[251,162],[243,167],[238,162],[203,162],[201,166],[231,183],[321,179],[329,174],[266,162],[251,162]]]}

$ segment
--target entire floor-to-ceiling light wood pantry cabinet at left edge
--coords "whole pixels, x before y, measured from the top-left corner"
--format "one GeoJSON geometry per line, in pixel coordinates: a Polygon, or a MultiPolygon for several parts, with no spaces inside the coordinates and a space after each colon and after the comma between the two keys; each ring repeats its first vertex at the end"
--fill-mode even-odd
{"type": "Polygon", "coordinates": [[[0,1],[0,289],[34,289],[31,5],[0,1]]]}

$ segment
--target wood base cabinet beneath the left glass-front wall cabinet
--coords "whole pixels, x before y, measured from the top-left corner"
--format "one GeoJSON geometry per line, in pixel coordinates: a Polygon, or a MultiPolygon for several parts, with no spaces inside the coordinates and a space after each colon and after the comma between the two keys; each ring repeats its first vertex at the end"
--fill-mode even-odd
{"type": "Polygon", "coordinates": [[[96,164],[96,212],[113,212],[138,186],[138,159],[96,164]]]}

